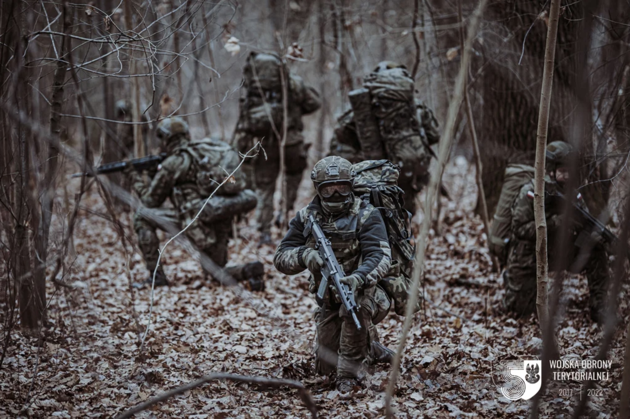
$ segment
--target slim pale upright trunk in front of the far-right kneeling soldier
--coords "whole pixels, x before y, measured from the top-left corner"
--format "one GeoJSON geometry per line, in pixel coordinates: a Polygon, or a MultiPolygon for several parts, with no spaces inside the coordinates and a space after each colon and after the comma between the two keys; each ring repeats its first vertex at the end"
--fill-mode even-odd
{"type": "MultiPolygon", "coordinates": [[[[536,221],[536,311],[541,330],[544,334],[549,323],[549,305],[547,289],[549,284],[549,265],[547,263],[547,221],[545,218],[545,151],[547,146],[547,130],[549,129],[549,106],[551,105],[551,89],[553,86],[554,60],[556,57],[556,37],[558,36],[558,16],[560,0],[552,0],[549,9],[549,28],[547,29],[547,46],[545,49],[545,65],[542,74],[541,106],[538,114],[538,132],[536,134],[536,163],[534,168],[534,219],[536,221]]],[[[546,342],[547,345],[554,344],[546,342]]]]}

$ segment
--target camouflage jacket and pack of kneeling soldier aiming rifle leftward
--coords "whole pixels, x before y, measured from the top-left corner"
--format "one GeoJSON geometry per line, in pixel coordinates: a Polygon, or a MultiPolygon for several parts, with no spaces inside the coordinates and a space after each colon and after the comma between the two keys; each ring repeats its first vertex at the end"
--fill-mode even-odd
{"type": "MultiPolygon", "coordinates": [[[[212,183],[216,188],[238,164],[238,153],[225,142],[209,138],[182,140],[171,147],[169,156],[157,166],[156,175],[149,185],[135,171],[132,172],[132,182],[146,207],[159,207],[166,198],[170,198],[181,212],[205,200],[211,193],[204,190],[207,187],[203,182],[212,183]]],[[[244,175],[239,170],[234,173],[233,181],[227,181],[217,195],[231,195],[243,189],[244,175]]]]}

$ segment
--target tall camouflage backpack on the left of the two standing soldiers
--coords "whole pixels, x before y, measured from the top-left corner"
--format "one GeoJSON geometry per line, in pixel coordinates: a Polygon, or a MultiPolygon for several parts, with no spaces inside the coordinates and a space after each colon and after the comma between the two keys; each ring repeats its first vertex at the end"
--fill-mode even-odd
{"type": "Polygon", "coordinates": [[[282,77],[289,83],[289,73],[279,57],[252,52],[243,67],[241,120],[239,129],[262,137],[282,130],[282,77]]]}

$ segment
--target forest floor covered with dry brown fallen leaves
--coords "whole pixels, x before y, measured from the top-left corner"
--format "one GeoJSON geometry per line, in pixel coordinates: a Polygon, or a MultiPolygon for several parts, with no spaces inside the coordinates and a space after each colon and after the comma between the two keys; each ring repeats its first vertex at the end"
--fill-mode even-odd
{"type": "MultiPolygon", "coordinates": [[[[413,319],[404,352],[396,416],[526,417],[530,401],[509,401],[493,377],[502,357],[536,358],[539,326],[533,316],[515,321],[501,313],[502,280],[491,272],[483,227],[473,212],[474,169],[463,158],[455,159],[444,183],[452,200],[442,198],[442,231],[431,233],[425,304],[413,319]]],[[[72,183],[70,188],[78,186],[72,183]]],[[[306,195],[301,192],[302,204],[306,195]]],[[[1,418],[111,418],[211,372],[299,380],[322,418],[384,416],[386,367],[379,365],[367,389],[353,399],[341,399],[333,382],[314,374],[316,304],[307,291],[307,275],[278,273],[272,264],[275,246],[257,248],[253,222],[239,224],[239,238],[230,242],[230,263],[264,261],[265,292],[244,291],[239,297],[234,289],[207,282],[185,248],[171,243],[163,263],[172,286],[155,291],[151,326],[140,352],[150,292],[130,290],[120,238],[112,223],[98,216],[106,210],[95,188],[84,197],[83,207],[91,212],[81,213],[74,234],[76,259],[64,277],[73,289],[49,284],[50,327],[41,341],[20,331],[11,333],[0,369],[1,418]]],[[[121,219],[133,237],[130,214],[121,219]]],[[[281,232],[274,229],[273,234],[279,241],[281,232]]],[[[134,282],[144,280],[146,270],[137,250],[129,262],[134,282]]],[[[562,359],[594,359],[602,333],[588,317],[586,281],[571,276],[564,289],[566,309],[557,333],[562,359]]],[[[624,290],[621,325],[628,321],[627,295],[624,290]]],[[[392,312],[379,324],[381,341],[390,348],[398,344],[402,323],[392,312]]],[[[588,403],[592,417],[616,416],[623,348],[620,326],[609,353],[609,378],[596,382],[588,403]]],[[[541,417],[570,417],[580,397],[586,396],[581,384],[552,381],[542,396],[541,417]]],[[[135,417],[308,416],[296,390],[215,381],[135,417]]]]}

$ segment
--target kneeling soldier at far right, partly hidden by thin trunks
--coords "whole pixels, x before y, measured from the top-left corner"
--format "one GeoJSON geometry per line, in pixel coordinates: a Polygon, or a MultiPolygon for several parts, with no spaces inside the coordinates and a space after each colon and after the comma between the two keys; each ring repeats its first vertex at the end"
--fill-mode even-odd
{"type": "MultiPolygon", "coordinates": [[[[569,181],[568,164],[576,157],[573,147],[563,141],[554,141],[547,146],[547,176],[545,176],[545,216],[547,219],[547,257],[549,270],[558,266],[554,260],[557,254],[560,229],[571,226],[570,243],[576,239],[583,227],[578,221],[571,220],[565,224],[567,214],[563,213],[563,200],[558,199],[565,193],[565,185],[569,181]]],[[[579,195],[581,197],[581,195],[579,195]]],[[[578,198],[578,205],[586,209],[586,205],[578,198]]],[[[576,260],[580,248],[572,246],[571,262],[576,260]]],[[[566,263],[574,267],[579,264],[566,263]]],[[[600,311],[605,301],[610,272],[608,255],[604,246],[595,244],[590,249],[588,260],[580,270],[588,279],[590,316],[593,321],[600,321],[600,311]]],[[[576,272],[577,273],[577,272],[576,272]]],[[[520,189],[512,206],[512,238],[508,243],[508,261],[503,272],[505,296],[503,306],[514,316],[527,316],[534,312],[536,304],[536,222],[534,221],[534,182],[528,181],[520,189]]]]}

